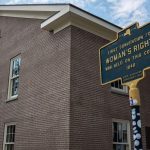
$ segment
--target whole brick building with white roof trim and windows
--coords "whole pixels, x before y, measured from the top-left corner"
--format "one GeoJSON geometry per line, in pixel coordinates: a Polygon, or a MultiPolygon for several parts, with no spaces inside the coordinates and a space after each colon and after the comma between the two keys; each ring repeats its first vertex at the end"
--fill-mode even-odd
{"type": "Polygon", "coordinates": [[[70,4],[0,6],[0,150],[132,150],[128,89],[99,77],[98,49],[120,30],[70,4]]]}

